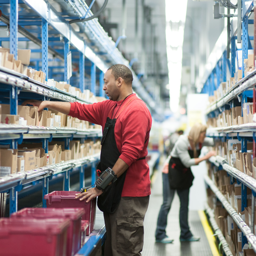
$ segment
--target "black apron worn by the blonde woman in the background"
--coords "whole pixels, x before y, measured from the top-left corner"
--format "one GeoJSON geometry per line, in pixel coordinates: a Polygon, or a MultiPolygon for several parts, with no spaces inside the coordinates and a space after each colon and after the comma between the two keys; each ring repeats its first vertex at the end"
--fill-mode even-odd
{"type": "MultiPolygon", "coordinates": [[[[191,158],[194,158],[194,151],[188,150],[191,158]]],[[[198,156],[201,154],[201,148],[197,150],[198,156]]],[[[181,162],[181,159],[171,157],[169,162],[169,183],[170,189],[189,189],[193,184],[194,175],[191,168],[187,168],[181,162]]]]}

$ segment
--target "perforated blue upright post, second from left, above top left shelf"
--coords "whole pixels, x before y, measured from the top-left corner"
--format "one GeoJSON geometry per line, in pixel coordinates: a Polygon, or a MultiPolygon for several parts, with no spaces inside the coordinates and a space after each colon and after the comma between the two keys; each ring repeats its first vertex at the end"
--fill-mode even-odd
{"type": "Polygon", "coordinates": [[[48,22],[42,18],[42,71],[48,81],[48,22]]]}

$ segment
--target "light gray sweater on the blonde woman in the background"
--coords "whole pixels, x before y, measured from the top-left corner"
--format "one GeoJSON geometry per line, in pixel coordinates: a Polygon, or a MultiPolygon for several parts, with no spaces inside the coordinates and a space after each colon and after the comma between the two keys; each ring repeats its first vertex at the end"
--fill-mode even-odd
{"type": "MultiPolygon", "coordinates": [[[[213,138],[206,137],[202,146],[213,146],[214,141],[213,138]]],[[[181,159],[181,162],[187,168],[195,165],[195,159],[191,158],[189,155],[189,149],[191,149],[189,138],[187,135],[179,136],[178,140],[176,141],[173,150],[171,151],[171,157],[176,157],[181,159]]],[[[199,149],[199,144],[197,144],[197,150],[199,149]]]]}

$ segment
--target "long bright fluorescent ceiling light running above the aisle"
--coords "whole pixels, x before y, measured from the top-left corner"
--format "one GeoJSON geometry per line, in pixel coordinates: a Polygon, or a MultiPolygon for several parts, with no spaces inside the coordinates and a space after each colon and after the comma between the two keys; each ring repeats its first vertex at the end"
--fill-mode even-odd
{"type": "Polygon", "coordinates": [[[187,0],[165,0],[166,51],[169,75],[170,109],[179,109],[181,91],[182,47],[186,21],[187,0]],[[178,11],[181,10],[182,11],[178,11]]]}

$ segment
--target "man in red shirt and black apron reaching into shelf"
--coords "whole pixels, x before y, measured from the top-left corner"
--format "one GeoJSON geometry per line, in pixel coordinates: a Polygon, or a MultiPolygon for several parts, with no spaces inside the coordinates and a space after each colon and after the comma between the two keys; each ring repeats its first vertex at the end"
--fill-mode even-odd
{"type": "Polygon", "coordinates": [[[141,255],[143,221],[149,204],[150,177],[146,163],[152,118],[146,104],[132,90],[133,74],[122,64],[111,66],[104,75],[103,90],[110,101],[78,102],[25,101],[23,105],[45,107],[101,125],[103,172],[111,168],[117,181],[104,192],[97,187],[77,194],[90,201],[98,196],[98,207],[106,225],[105,255],[141,255]]]}

